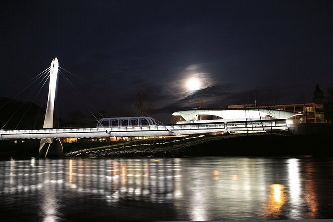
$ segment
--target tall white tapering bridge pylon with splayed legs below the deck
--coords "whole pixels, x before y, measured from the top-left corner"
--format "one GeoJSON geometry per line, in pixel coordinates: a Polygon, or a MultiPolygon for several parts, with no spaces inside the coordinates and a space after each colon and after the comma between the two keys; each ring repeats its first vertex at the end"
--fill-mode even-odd
{"type": "MultiPolygon", "coordinates": [[[[44,129],[53,128],[54,100],[56,94],[58,69],[59,69],[59,62],[57,57],[55,57],[52,60],[50,67],[50,84],[49,84],[49,94],[47,98],[47,107],[46,107],[44,126],[43,126],[44,129]]],[[[52,149],[53,153],[56,153],[55,154],[56,156],[62,155],[63,147],[59,139],[53,141],[52,138],[42,138],[40,140],[40,145],[39,145],[39,156],[46,157],[50,148],[52,149]]]]}

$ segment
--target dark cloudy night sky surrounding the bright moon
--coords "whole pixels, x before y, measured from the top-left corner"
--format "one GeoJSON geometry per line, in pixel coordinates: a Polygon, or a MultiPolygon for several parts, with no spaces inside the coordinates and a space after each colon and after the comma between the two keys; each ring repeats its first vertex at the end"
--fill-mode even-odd
{"type": "MultiPolygon", "coordinates": [[[[131,116],[147,91],[150,116],[187,108],[312,102],[333,86],[333,0],[5,0],[0,97],[48,68],[59,75],[55,114],[131,116]],[[190,78],[200,81],[190,90],[190,78]],[[94,111],[93,111],[94,112],[94,111]]],[[[15,97],[46,106],[48,83],[15,97]]]]}

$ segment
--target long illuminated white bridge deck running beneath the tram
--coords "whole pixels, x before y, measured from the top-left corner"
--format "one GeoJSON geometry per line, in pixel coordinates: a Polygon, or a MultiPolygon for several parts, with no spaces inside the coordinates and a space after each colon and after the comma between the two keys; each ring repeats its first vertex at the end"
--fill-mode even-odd
{"type": "Polygon", "coordinates": [[[103,138],[133,136],[176,136],[207,134],[213,132],[239,132],[262,130],[287,130],[286,121],[219,122],[209,124],[176,124],[142,127],[112,128],[60,128],[36,130],[0,130],[2,139],[42,139],[42,138],[103,138]],[[268,124],[269,123],[269,124],[268,124]]]}

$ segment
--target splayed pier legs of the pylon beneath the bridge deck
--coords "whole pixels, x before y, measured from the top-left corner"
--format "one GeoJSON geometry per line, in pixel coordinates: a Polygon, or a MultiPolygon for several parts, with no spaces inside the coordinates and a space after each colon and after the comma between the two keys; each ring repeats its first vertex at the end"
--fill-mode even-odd
{"type": "Polygon", "coordinates": [[[39,157],[57,158],[63,156],[63,146],[60,139],[41,139],[39,145],[39,157]]]}

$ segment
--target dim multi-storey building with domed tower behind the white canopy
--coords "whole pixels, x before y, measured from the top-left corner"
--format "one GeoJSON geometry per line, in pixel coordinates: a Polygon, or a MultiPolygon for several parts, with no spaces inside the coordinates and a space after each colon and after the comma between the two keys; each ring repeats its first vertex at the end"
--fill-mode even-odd
{"type": "MultiPolygon", "coordinates": [[[[298,115],[290,118],[294,121],[294,123],[326,123],[327,121],[324,118],[324,104],[326,102],[326,99],[323,97],[323,91],[319,88],[319,85],[317,84],[316,90],[314,91],[312,103],[265,105],[258,107],[303,113],[303,115],[298,115]]],[[[255,105],[239,104],[228,106],[228,108],[244,107],[253,108],[255,107],[255,105]]]]}

